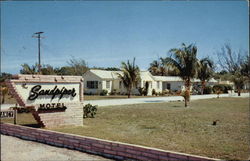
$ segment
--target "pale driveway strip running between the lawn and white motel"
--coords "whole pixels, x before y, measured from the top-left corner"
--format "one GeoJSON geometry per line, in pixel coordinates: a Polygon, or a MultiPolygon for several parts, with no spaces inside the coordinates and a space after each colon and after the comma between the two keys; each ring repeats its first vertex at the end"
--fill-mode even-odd
{"type": "MultiPolygon", "coordinates": [[[[229,96],[229,94],[220,94],[220,97],[238,97],[237,94],[229,96]]],[[[249,97],[249,93],[241,93],[240,97],[249,97]]],[[[216,94],[210,95],[193,95],[191,100],[217,98],[216,94]]],[[[165,97],[148,97],[148,98],[129,98],[129,99],[106,99],[106,100],[87,100],[85,104],[90,103],[98,106],[114,106],[114,105],[127,105],[127,104],[141,104],[141,103],[158,103],[158,102],[171,102],[183,101],[182,96],[165,96],[165,97]]]]}

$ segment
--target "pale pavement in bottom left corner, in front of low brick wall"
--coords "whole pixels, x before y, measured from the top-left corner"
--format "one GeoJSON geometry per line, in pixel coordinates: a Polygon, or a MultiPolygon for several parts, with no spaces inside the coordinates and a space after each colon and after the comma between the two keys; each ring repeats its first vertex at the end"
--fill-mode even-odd
{"type": "Polygon", "coordinates": [[[1,135],[1,161],[104,161],[99,156],[1,135]]]}

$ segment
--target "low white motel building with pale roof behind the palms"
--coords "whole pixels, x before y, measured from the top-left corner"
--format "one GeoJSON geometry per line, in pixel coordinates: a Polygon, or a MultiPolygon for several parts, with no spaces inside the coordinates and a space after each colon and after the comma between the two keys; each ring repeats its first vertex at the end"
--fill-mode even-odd
{"type": "MultiPolygon", "coordinates": [[[[99,69],[90,69],[84,75],[84,93],[86,94],[100,94],[102,90],[107,90],[108,93],[116,91],[119,94],[126,94],[122,81],[118,74],[121,71],[106,71],[99,69]]],[[[184,83],[180,77],[177,76],[153,76],[148,71],[140,72],[141,80],[138,82],[137,88],[132,90],[132,94],[139,94],[138,88],[145,87],[148,84],[148,95],[152,95],[152,90],[155,92],[163,92],[168,89],[171,91],[181,90],[184,83]]],[[[200,80],[194,79],[193,83],[199,84],[200,80]]],[[[211,79],[207,85],[213,86],[217,84],[215,79],[211,79]]]]}

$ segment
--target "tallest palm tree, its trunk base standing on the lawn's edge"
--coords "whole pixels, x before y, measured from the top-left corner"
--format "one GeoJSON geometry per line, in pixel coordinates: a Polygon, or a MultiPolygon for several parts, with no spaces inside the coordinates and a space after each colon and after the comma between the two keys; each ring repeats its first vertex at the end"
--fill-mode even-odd
{"type": "Polygon", "coordinates": [[[197,47],[193,44],[186,46],[183,43],[181,48],[174,48],[169,52],[172,55],[164,59],[164,64],[175,69],[176,74],[184,81],[184,99],[185,107],[187,107],[190,98],[191,79],[197,75],[199,66],[198,59],[196,58],[197,47]]]}

